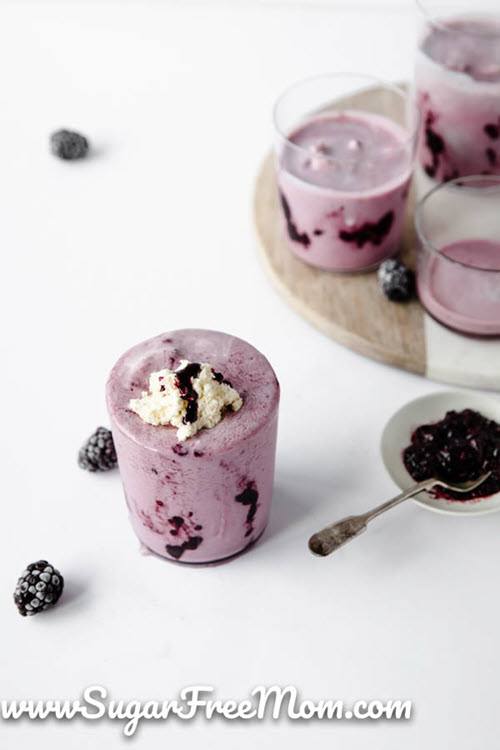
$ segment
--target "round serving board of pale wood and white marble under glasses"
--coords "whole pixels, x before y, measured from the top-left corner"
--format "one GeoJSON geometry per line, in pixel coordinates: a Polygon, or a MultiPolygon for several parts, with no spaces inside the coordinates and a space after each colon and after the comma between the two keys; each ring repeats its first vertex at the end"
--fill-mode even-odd
{"type": "MultiPolygon", "coordinates": [[[[354,106],[362,105],[365,92],[354,106]]],[[[353,101],[346,102],[353,106],[353,101]]],[[[425,190],[419,181],[419,194],[425,190]]],[[[415,267],[409,196],[402,257],[415,267]]],[[[309,266],[288,249],[274,156],[257,176],[254,221],[265,266],[278,291],[304,318],[335,341],[367,357],[447,383],[500,390],[500,339],[461,336],[428,316],[418,300],[397,304],[380,292],[376,273],[331,273],[309,266]]]]}

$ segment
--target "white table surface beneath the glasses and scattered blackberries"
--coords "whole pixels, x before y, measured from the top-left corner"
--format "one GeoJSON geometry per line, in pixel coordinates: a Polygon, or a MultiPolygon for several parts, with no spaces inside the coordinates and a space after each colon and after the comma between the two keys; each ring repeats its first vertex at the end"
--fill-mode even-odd
{"type": "MultiPolygon", "coordinates": [[[[410,722],[142,726],[132,742],[342,750],[496,747],[500,516],[415,505],[329,559],[308,535],[394,493],[385,421],[442,386],[326,339],[269,285],[251,226],[270,108],[322,70],[410,75],[411,4],[0,5],[2,488],[0,697],[407,698],[410,722]],[[390,6],[393,6],[392,9],[390,6]],[[65,164],[69,126],[95,156],[65,164]],[[141,556],[117,472],[75,453],[106,424],[103,386],[131,344],[179,327],[242,336],[282,384],[271,522],[248,554],[190,568],[141,556]],[[21,619],[18,574],[46,557],[64,603],[21,619]]],[[[0,747],[119,748],[111,722],[0,723],[0,747]]],[[[130,742],[130,741],[129,741],[130,742]]]]}

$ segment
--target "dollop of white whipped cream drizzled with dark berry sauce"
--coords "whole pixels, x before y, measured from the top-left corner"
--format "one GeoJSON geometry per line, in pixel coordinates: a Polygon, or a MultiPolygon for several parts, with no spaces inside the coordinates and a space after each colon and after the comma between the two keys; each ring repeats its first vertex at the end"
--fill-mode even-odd
{"type": "Polygon", "coordinates": [[[229,409],[243,406],[238,391],[206,362],[181,360],[177,370],[158,370],[149,376],[149,391],[129,401],[143,422],[177,427],[177,438],[187,440],[203,428],[215,427],[229,409]]]}

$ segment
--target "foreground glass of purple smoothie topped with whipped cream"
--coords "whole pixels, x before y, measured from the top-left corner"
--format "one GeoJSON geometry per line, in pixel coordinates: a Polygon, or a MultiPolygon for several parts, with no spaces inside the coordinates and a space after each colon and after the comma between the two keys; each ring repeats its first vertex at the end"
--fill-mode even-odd
{"type": "Polygon", "coordinates": [[[208,563],[259,538],[279,406],[260,352],[216,331],[165,333],[118,360],[106,401],[130,520],[148,549],[208,563]]]}

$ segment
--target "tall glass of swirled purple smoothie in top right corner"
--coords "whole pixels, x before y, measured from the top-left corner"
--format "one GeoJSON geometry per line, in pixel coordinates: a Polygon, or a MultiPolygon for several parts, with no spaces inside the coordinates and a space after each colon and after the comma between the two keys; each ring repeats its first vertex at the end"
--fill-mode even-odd
{"type": "Polygon", "coordinates": [[[417,5],[420,165],[438,182],[500,174],[500,3],[417,5]]]}

